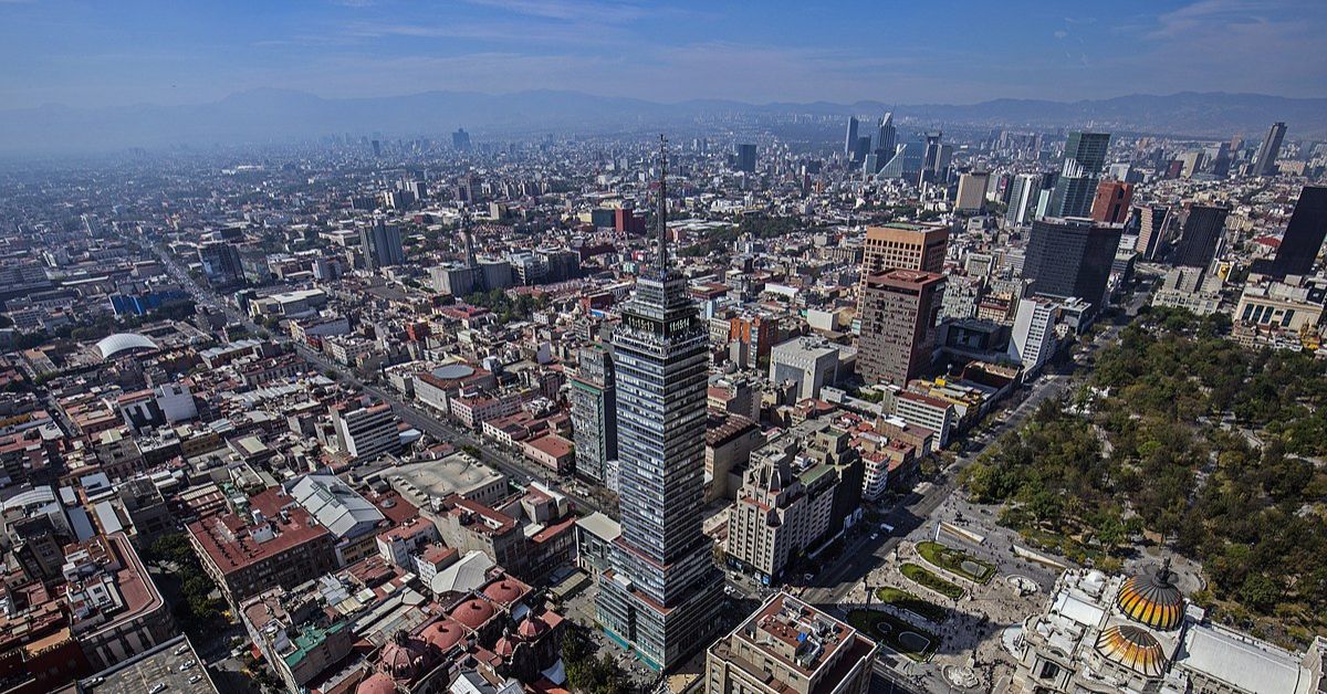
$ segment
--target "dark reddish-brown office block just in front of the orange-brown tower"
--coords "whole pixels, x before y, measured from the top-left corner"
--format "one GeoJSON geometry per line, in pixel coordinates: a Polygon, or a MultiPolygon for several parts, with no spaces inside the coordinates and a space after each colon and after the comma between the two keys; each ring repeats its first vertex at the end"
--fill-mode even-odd
{"type": "Polygon", "coordinates": [[[937,272],[890,269],[867,277],[857,368],[868,383],[898,386],[930,366],[945,295],[937,272]]]}

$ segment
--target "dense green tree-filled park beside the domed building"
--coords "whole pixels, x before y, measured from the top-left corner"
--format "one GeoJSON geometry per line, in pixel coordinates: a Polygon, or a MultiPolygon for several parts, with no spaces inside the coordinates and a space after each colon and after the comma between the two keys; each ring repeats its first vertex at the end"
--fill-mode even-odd
{"type": "Polygon", "coordinates": [[[965,471],[973,498],[1071,559],[1117,565],[1144,531],[1202,563],[1216,614],[1283,642],[1327,632],[1327,364],[1245,352],[1221,318],[1151,311],[1078,393],[965,471]],[[1261,446],[1258,446],[1261,443],[1261,446]]]}

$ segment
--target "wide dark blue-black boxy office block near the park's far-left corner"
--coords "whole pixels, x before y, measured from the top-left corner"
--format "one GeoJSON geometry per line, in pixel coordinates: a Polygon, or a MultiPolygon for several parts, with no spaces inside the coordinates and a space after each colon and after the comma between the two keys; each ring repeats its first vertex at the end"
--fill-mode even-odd
{"type": "Polygon", "coordinates": [[[1120,245],[1123,224],[1091,219],[1047,218],[1032,222],[1023,277],[1032,280],[1032,293],[1079,297],[1097,313],[1120,245]]]}

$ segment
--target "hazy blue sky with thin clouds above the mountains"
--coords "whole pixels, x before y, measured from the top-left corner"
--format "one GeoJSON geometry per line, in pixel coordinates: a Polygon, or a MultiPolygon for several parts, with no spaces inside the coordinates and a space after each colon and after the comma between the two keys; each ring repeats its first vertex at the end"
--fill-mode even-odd
{"type": "Polygon", "coordinates": [[[658,101],[1327,96],[1327,0],[0,0],[0,109],[572,89],[658,101]]]}

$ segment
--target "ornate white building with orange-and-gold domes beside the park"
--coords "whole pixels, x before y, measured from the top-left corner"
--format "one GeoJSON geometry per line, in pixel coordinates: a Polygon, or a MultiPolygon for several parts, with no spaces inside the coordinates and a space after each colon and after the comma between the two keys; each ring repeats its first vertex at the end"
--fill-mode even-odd
{"type": "Polygon", "coordinates": [[[1133,576],[1067,571],[1047,609],[1015,626],[1015,691],[1310,694],[1327,640],[1289,653],[1212,624],[1169,560],[1133,576]]]}

